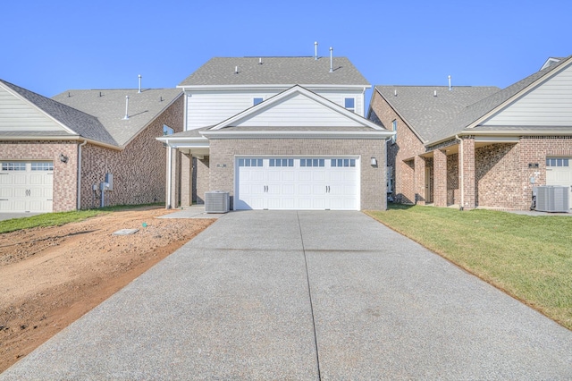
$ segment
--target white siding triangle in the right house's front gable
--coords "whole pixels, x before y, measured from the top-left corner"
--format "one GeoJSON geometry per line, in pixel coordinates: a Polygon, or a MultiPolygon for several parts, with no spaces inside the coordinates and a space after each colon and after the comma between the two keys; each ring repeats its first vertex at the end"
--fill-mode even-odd
{"type": "Polygon", "coordinates": [[[546,80],[512,105],[493,115],[484,125],[564,126],[572,121],[572,64],[546,80]]]}

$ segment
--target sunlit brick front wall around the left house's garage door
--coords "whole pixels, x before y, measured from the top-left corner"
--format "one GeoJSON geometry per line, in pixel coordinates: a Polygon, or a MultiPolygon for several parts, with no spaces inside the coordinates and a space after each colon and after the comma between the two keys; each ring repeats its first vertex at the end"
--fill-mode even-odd
{"type": "Polygon", "coordinates": [[[0,141],[0,161],[41,160],[54,162],[53,211],[75,210],[78,199],[77,141],[0,141]],[[60,154],[68,157],[60,161],[60,154]]]}

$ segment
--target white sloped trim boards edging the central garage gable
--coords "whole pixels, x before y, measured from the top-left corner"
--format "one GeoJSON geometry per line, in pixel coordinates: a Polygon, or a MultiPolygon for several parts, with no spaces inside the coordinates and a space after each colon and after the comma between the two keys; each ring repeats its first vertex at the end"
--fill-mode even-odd
{"type": "Polygon", "coordinates": [[[229,118],[229,119],[227,119],[221,123],[216,124],[210,131],[221,130],[225,127],[230,127],[235,123],[240,123],[240,121],[248,119],[248,117],[250,117],[250,116],[254,116],[257,113],[264,112],[264,110],[272,108],[273,106],[282,102],[282,100],[284,100],[284,99],[286,99],[286,98],[288,98],[294,94],[301,94],[305,97],[308,97],[309,99],[315,101],[316,103],[329,108],[333,112],[347,117],[349,120],[351,120],[354,123],[358,123],[364,127],[369,127],[369,128],[376,130],[376,131],[386,131],[383,128],[381,128],[380,126],[378,126],[377,124],[368,121],[366,118],[359,116],[358,114],[355,114],[349,110],[346,110],[342,106],[336,105],[332,101],[330,101],[324,97],[321,97],[321,96],[315,94],[314,92],[312,92],[308,89],[304,89],[303,87],[301,87],[299,85],[296,85],[290,89],[287,89],[287,90],[283,91],[282,93],[275,95],[274,97],[270,97],[270,98],[266,99],[264,102],[259,103],[257,106],[252,106],[252,107],[248,108],[247,110],[245,110],[239,114],[236,114],[236,115],[232,116],[231,118],[229,118]]]}

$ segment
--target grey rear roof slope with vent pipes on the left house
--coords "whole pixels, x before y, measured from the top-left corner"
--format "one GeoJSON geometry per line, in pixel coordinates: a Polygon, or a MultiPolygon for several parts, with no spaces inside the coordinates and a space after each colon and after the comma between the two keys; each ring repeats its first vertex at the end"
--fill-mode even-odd
{"type": "MultiPolygon", "coordinates": [[[[53,99],[81,112],[93,115],[109,134],[114,144],[128,143],[172,101],[181,89],[90,89],[67,90],[53,99]],[[125,97],[129,96],[129,119],[125,116],[125,97]]],[[[82,136],[85,136],[82,134],[82,136]]]]}

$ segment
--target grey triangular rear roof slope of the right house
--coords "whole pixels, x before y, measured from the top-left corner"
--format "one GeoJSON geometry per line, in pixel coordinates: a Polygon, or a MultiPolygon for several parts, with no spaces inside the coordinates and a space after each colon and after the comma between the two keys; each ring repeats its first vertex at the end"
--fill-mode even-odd
{"type": "Polygon", "coordinates": [[[427,142],[440,125],[450,123],[467,106],[498,92],[499,88],[458,86],[449,90],[446,86],[375,86],[375,90],[427,142]]]}

